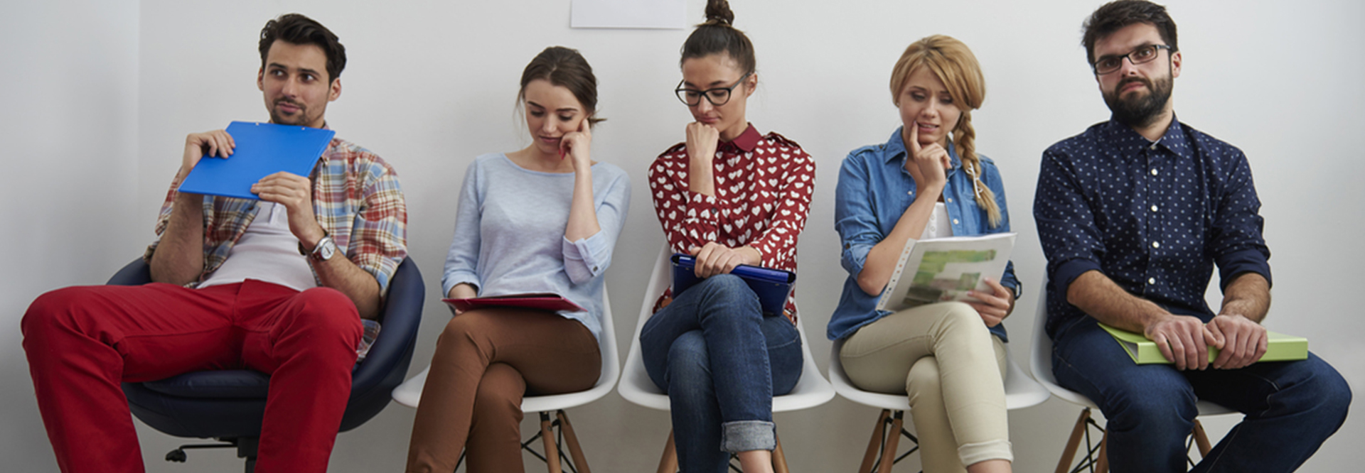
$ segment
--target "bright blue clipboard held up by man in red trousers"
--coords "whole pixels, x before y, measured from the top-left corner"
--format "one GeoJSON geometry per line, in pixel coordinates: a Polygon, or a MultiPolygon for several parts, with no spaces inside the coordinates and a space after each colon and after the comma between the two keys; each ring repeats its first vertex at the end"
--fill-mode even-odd
{"type": "Polygon", "coordinates": [[[232,157],[199,159],[180,183],[180,192],[261,199],[251,194],[251,184],[281,170],[307,177],[337,134],[254,121],[233,121],[227,131],[236,143],[232,157]]]}

